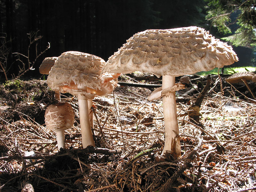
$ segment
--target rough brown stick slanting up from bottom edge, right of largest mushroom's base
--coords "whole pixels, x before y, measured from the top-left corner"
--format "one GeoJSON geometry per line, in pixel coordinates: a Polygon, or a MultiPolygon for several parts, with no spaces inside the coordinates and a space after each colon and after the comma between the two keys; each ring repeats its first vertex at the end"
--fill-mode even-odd
{"type": "Polygon", "coordinates": [[[196,155],[197,150],[202,145],[202,140],[198,138],[199,142],[197,146],[188,154],[186,160],[184,161],[183,165],[180,167],[180,169],[175,172],[170,179],[168,179],[164,185],[159,189],[159,192],[170,192],[172,183],[177,180],[177,178],[185,171],[185,169],[188,167],[188,165],[191,163],[191,161],[194,159],[194,156],[196,155]]]}

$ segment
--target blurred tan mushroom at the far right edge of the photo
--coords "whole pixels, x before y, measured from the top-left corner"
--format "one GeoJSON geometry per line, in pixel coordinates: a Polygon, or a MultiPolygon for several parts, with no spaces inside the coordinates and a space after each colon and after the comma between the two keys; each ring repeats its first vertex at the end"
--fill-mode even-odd
{"type": "Polygon", "coordinates": [[[248,82],[247,82],[247,81],[255,81],[254,76],[255,76],[255,74],[250,71],[239,72],[239,73],[234,73],[233,75],[226,78],[226,81],[231,84],[243,82],[245,84],[246,88],[248,89],[248,91],[252,94],[252,97],[254,99],[256,99],[253,92],[250,89],[248,82]]]}

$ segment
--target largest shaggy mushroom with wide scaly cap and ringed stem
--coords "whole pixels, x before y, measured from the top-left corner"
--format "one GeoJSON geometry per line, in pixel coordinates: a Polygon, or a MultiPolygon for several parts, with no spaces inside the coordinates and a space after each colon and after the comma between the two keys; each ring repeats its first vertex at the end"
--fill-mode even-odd
{"type": "Polygon", "coordinates": [[[169,151],[172,156],[179,157],[180,139],[175,91],[183,86],[175,84],[175,76],[221,68],[237,60],[231,46],[215,39],[203,28],[150,29],[128,39],[127,43],[108,59],[104,71],[141,71],[157,77],[163,76],[162,87],[157,88],[149,100],[163,97],[165,144],[162,155],[169,151]]]}

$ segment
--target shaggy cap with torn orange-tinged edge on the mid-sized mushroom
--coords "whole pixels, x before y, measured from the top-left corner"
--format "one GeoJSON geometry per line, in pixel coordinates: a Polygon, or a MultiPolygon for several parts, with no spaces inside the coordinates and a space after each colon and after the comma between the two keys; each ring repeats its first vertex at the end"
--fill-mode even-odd
{"type": "MultiPolygon", "coordinates": [[[[106,76],[101,76],[104,65],[105,61],[95,55],[75,51],[64,52],[58,57],[49,73],[48,86],[54,91],[69,92],[72,95],[81,94],[88,99],[93,99],[96,94],[107,94],[109,89],[105,89],[101,84],[106,76]],[[77,85],[84,88],[79,90],[77,85]]],[[[113,85],[111,91],[117,85],[113,79],[112,76],[108,81],[113,85]]],[[[111,87],[109,84],[108,88],[111,87]]]]}

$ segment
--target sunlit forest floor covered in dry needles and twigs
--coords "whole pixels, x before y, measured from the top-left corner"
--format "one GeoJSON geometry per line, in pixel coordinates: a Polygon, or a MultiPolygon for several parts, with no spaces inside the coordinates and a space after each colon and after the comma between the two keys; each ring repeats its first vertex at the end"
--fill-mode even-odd
{"type": "MultiPolygon", "coordinates": [[[[122,150],[104,155],[82,149],[76,97],[61,95],[75,123],[65,131],[66,149],[58,152],[56,134],[44,124],[54,92],[44,80],[8,81],[0,85],[0,191],[156,192],[166,183],[165,191],[255,191],[256,102],[248,100],[244,84],[224,79],[220,85],[212,76],[198,124],[187,111],[206,77],[191,76],[197,88],[176,92],[181,157],[164,161],[156,158],[164,147],[162,100],[147,100],[153,89],[119,86],[93,100],[97,147],[122,150]]],[[[119,81],[149,83],[131,76],[119,81]]],[[[256,84],[249,85],[255,93],[256,84]]]]}

